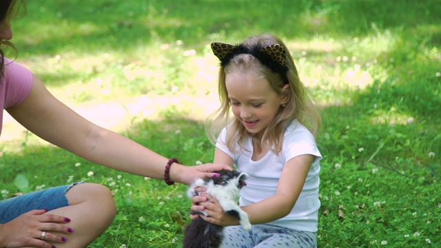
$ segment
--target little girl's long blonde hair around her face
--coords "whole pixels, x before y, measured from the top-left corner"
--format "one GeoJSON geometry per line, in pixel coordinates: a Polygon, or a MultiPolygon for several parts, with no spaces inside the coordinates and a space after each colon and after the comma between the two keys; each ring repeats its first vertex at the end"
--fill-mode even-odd
{"type": "MultiPolygon", "coordinates": [[[[318,128],[320,127],[320,115],[318,114],[314,103],[309,99],[305,87],[302,85],[298,77],[294,60],[292,59],[291,54],[289,54],[283,41],[271,34],[263,34],[249,37],[235,48],[249,52],[238,52],[231,58],[227,57],[227,61],[221,59],[222,63],[218,74],[220,107],[208,117],[207,122],[205,123],[205,131],[207,132],[209,140],[212,143],[216,143],[216,137],[220,134],[220,131],[228,126],[227,138],[224,142],[229,150],[238,152],[234,149],[236,144],[239,145],[240,149],[245,150],[245,141],[247,141],[247,138],[252,138],[252,141],[256,144],[258,149],[267,147],[268,149],[271,149],[271,151],[279,153],[282,149],[285,130],[295,119],[297,119],[302,125],[305,125],[305,127],[316,136],[318,128]],[[285,50],[285,70],[271,69],[274,67],[271,66],[271,68],[269,68],[269,66],[264,65],[268,64],[268,61],[263,61],[260,57],[256,57],[256,54],[259,54],[259,52],[256,51],[274,44],[280,45],[285,50]],[[280,107],[276,118],[274,118],[274,121],[269,124],[261,139],[257,138],[255,134],[249,133],[237,118],[231,118],[230,116],[232,103],[228,98],[225,78],[229,72],[232,72],[232,70],[252,70],[266,79],[269,82],[270,87],[279,96],[285,95],[288,98],[285,107],[280,107]],[[289,87],[287,89],[285,87],[286,90],[283,90],[283,87],[287,84],[289,84],[289,87]]],[[[271,63],[277,62],[271,61],[271,63]]]]}

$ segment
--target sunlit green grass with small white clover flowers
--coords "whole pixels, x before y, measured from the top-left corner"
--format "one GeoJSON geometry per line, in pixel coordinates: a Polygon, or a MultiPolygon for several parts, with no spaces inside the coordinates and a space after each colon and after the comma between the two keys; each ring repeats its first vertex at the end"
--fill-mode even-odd
{"type": "MultiPolygon", "coordinates": [[[[274,32],[322,109],[319,247],[441,244],[439,1],[27,4],[17,61],[87,118],[187,165],[214,152],[209,43],[274,32]]],[[[119,214],[90,247],[180,247],[185,185],[99,167],[9,121],[0,148],[3,198],[76,180],[112,189],[119,214]]]]}

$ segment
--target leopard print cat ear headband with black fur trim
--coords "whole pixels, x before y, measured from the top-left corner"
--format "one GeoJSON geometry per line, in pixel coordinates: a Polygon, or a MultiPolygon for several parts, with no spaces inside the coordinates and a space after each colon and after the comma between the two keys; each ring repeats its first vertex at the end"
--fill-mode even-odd
{"type": "Polygon", "coordinates": [[[225,67],[234,56],[238,54],[251,54],[255,56],[260,63],[267,66],[273,72],[286,77],[289,70],[287,66],[287,51],[282,45],[267,45],[263,48],[247,48],[243,44],[229,45],[220,42],[212,43],[213,53],[220,60],[220,66],[225,67]]]}

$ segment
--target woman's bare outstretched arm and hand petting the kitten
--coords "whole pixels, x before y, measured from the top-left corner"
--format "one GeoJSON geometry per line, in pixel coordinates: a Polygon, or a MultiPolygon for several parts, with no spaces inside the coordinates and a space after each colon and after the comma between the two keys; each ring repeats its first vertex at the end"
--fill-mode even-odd
{"type": "MultiPolygon", "coordinates": [[[[168,158],[87,121],[52,96],[36,76],[28,98],[20,105],[10,107],[8,112],[30,132],[89,161],[122,172],[163,178],[168,158]]],[[[186,167],[174,163],[170,179],[189,184],[196,178],[213,175],[205,172],[225,167],[186,167]]]]}

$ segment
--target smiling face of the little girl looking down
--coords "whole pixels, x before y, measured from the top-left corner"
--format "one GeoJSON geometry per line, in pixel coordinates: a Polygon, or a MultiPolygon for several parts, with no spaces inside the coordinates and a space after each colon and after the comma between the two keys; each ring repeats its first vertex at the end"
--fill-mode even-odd
{"type": "Polygon", "coordinates": [[[280,105],[286,103],[285,98],[252,70],[227,73],[225,84],[234,116],[248,132],[262,138],[268,125],[276,118],[280,105]]]}

